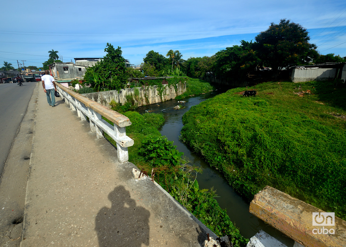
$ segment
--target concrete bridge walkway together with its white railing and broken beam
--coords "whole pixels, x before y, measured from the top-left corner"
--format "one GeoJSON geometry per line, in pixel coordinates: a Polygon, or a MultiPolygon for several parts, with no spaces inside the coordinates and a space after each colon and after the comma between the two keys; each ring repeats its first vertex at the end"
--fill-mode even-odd
{"type": "MultiPolygon", "coordinates": [[[[56,107],[47,104],[40,84],[31,97],[33,115],[27,111],[25,118],[33,118],[34,131],[24,216],[3,207],[10,231],[2,233],[2,246],[187,247],[204,246],[207,234],[216,238],[158,184],[133,177],[137,167],[128,162],[133,140],[126,136],[127,117],[57,86],[62,97],[56,107]]],[[[323,211],[273,188],[258,193],[250,211],[295,240],[295,246],[346,246],[345,221],[335,217],[336,234],[315,234],[310,213],[323,211]]],[[[284,247],[265,232],[248,246],[284,247]]]]}

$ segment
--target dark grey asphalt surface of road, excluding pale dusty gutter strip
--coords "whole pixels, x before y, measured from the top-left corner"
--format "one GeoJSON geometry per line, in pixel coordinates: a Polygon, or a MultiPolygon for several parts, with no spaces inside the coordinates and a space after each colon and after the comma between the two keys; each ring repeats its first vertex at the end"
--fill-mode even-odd
{"type": "Polygon", "coordinates": [[[0,84],[0,182],[4,163],[26,113],[36,82],[0,84]]]}

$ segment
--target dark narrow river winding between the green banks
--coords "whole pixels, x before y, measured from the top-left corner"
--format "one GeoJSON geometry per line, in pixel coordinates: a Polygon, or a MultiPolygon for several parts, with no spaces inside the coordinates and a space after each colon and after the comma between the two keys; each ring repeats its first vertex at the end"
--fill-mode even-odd
{"type": "Polygon", "coordinates": [[[202,101],[219,93],[222,93],[220,89],[219,91],[213,91],[195,97],[188,97],[181,100],[173,99],[158,104],[141,106],[137,109],[137,112],[142,114],[145,112],[161,112],[164,114],[165,123],[160,131],[161,134],[167,136],[168,140],[173,141],[177,149],[183,152],[193,165],[202,168],[202,174],[198,174],[197,176],[200,189],[210,189],[213,187],[214,190],[216,190],[216,194],[218,195],[216,199],[220,207],[227,209],[229,218],[239,228],[240,233],[244,237],[251,238],[256,232],[262,229],[271,236],[280,239],[280,241],[287,246],[293,246],[293,242],[290,238],[284,236],[280,231],[268,226],[265,222],[249,213],[249,203],[227,184],[222,174],[218,170],[209,167],[199,155],[189,150],[189,148],[179,140],[180,131],[183,127],[182,116],[184,113],[187,112],[191,106],[198,105],[202,101]],[[178,101],[185,101],[186,103],[178,103],[178,101]],[[174,110],[173,107],[176,105],[185,106],[186,108],[174,110]]]}

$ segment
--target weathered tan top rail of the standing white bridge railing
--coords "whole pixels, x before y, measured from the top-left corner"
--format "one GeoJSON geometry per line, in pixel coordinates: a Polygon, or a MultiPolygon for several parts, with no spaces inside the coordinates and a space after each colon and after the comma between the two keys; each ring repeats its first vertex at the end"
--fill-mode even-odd
{"type": "Polygon", "coordinates": [[[95,101],[92,101],[89,98],[84,97],[83,95],[76,93],[72,91],[71,89],[68,89],[61,85],[60,83],[55,83],[61,90],[65,91],[66,93],[70,94],[72,97],[77,99],[78,101],[82,102],[87,107],[91,108],[95,112],[101,114],[102,116],[106,117],[109,121],[115,123],[119,127],[126,127],[130,126],[132,123],[130,122],[129,118],[127,116],[124,116],[116,111],[113,111],[112,109],[103,106],[95,101]]]}

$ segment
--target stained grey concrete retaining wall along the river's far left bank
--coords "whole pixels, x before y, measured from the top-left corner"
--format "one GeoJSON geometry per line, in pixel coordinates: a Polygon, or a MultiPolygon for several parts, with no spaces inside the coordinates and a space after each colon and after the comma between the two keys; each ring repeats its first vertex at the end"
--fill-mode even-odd
{"type": "Polygon", "coordinates": [[[166,84],[162,86],[163,86],[162,96],[160,95],[160,92],[157,90],[157,86],[126,88],[126,89],[120,89],[119,92],[117,90],[112,90],[112,91],[105,91],[105,92],[83,94],[83,96],[93,101],[96,101],[97,103],[101,105],[110,107],[109,102],[111,102],[112,99],[117,103],[124,104],[126,103],[126,95],[132,95],[137,105],[142,106],[142,105],[155,104],[162,101],[174,99],[177,95],[181,95],[186,91],[186,83],[177,84],[177,92],[175,92],[173,85],[168,86],[166,84]],[[138,101],[135,98],[135,89],[138,89],[138,92],[139,92],[138,101]]]}

